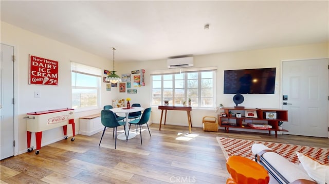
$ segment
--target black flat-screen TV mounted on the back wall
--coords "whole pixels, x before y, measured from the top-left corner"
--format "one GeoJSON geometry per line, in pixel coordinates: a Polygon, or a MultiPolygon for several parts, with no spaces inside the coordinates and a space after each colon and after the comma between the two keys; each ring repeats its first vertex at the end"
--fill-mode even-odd
{"type": "Polygon", "coordinates": [[[224,94],[274,94],[276,68],[224,71],[224,94]]]}

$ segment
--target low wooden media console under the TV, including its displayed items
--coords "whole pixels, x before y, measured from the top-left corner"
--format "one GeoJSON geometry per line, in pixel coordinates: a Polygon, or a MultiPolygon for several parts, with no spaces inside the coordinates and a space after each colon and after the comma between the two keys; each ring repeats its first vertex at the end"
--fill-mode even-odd
{"type": "Polygon", "coordinates": [[[224,107],[221,110],[224,110],[224,113],[218,114],[218,124],[224,127],[227,133],[229,133],[229,128],[268,130],[269,134],[275,131],[276,137],[278,131],[288,132],[288,130],[279,129],[280,121],[288,121],[287,110],[239,107],[224,107]]]}

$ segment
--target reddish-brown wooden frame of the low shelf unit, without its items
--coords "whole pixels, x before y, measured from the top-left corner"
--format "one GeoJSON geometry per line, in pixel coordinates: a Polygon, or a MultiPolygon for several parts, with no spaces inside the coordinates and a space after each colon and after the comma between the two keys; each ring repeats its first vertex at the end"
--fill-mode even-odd
{"type": "Polygon", "coordinates": [[[218,124],[220,127],[224,127],[225,131],[229,133],[229,128],[241,128],[241,129],[253,129],[253,130],[268,130],[270,134],[271,131],[275,131],[276,137],[278,136],[278,131],[288,132],[286,129],[279,129],[279,121],[288,121],[288,111],[282,109],[253,109],[253,108],[234,108],[234,107],[223,107],[221,110],[224,110],[226,117],[222,117],[221,114],[218,114],[218,124]],[[245,110],[252,110],[257,112],[257,118],[253,117],[245,117],[245,110]],[[241,117],[230,116],[229,112],[234,111],[235,113],[241,113],[241,117]],[[266,119],[265,113],[266,112],[275,112],[277,113],[276,119],[266,119]],[[230,119],[234,119],[235,121],[232,122],[230,119]],[[250,127],[249,125],[243,125],[244,120],[262,120],[267,121],[268,125],[271,125],[271,129],[261,129],[261,128],[254,128],[250,127]],[[223,124],[223,121],[228,121],[229,124],[223,124]]]}

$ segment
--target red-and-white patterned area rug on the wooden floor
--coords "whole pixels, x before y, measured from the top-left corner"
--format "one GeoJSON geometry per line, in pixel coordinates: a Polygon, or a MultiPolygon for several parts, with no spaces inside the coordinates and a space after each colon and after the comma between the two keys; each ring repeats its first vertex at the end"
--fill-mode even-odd
{"type": "Polygon", "coordinates": [[[283,157],[287,158],[290,162],[299,163],[296,151],[308,155],[321,163],[329,165],[329,149],[317,148],[317,147],[307,147],[291,144],[283,144],[278,142],[263,142],[257,140],[245,140],[245,139],[235,139],[226,137],[216,137],[218,143],[220,144],[224,155],[226,158],[232,155],[239,155],[247,157],[249,159],[254,159],[254,155],[251,152],[251,146],[256,143],[261,143],[268,148],[276,151],[283,157]]]}

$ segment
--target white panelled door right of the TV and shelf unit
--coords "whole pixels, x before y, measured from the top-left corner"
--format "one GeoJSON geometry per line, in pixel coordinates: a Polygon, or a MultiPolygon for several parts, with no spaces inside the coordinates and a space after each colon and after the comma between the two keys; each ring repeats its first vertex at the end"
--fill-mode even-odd
{"type": "Polygon", "coordinates": [[[285,134],[328,137],[328,59],[282,62],[285,134]]]}

